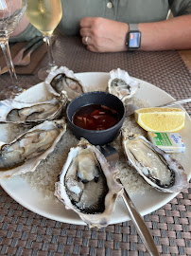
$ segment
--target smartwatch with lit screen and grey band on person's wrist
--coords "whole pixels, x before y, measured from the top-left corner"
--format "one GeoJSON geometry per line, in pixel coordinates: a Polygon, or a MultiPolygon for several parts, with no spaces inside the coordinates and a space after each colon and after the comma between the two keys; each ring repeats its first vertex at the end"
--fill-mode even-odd
{"type": "Polygon", "coordinates": [[[141,32],[138,24],[129,24],[126,46],[129,50],[136,50],[141,46],[141,32]]]}

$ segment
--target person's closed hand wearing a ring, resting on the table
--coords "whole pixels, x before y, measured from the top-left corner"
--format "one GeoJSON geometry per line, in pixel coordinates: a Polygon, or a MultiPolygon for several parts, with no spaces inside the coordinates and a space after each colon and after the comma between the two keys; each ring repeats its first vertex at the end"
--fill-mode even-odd
{"type": "Polygon", "coordinates": [[[126,51],[129,26],[100,17],[86,17],[80,21],[82,44],[94,52],[126,51]],[[85,38],[88,37],[88,42],[85,38]]]}

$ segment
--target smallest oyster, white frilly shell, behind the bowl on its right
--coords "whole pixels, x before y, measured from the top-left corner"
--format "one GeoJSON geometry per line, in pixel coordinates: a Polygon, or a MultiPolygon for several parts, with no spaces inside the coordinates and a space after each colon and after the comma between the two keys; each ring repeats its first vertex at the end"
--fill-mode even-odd
{"type": "Polygon", "coordinates": [[[139,89],[139,83],[130,78],[125,70],[113,69],[110,72],[110,77],[108,91],[123,102],[130,99],[139,89]]]}

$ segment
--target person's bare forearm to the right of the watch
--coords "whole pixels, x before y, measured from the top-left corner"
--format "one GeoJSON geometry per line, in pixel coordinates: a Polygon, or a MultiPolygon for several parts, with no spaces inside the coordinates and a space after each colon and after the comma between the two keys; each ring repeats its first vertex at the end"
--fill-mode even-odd
{"type": "Polygon", "coordinates": [[[142,33],[141,50],[191,48],[191,15],[139,24],[139,29],[142,33]]]}

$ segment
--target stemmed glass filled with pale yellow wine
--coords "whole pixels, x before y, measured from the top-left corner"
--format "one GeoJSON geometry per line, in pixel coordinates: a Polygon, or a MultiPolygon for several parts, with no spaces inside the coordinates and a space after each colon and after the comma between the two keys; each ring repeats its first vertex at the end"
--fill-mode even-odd
{"type": "Polygon", "coordinates": [[[61,21],[61,0],[27,0],[26,16],[43,33],[47,45],[48,66],[38,72],[38,77],[45,80],[50,71],[58,68],[53,59],[51,35],[61,21]]]}

